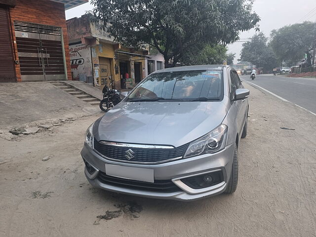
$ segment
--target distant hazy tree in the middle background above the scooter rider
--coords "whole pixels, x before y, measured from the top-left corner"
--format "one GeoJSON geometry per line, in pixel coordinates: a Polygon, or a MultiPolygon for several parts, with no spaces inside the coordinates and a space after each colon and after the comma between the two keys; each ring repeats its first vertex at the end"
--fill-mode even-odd
{"type": "Polygon", "coordinates": [[[278,65],[276,56],[268,44],[268,38],[262,32],[242,44],[240,60],[251,62],[258,68],[266,70],[271,70],[278,65]]]}

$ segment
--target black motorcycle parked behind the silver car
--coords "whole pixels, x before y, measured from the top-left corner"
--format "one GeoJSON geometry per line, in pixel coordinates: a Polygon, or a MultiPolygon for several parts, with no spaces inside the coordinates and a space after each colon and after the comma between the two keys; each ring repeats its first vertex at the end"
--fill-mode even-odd
{"type": "MultiPolygon", "coordinates": [[[[112,82],[110,87],[112,87],[112,82]]],[[[104,112],[107,112],[110,108],[116,106],[128,94],[128,92],[120,92],[119,90],[109,88],[107,85],[103,87],[102,93],[103,100],[100,101],[99,107],[104,112]]]]}

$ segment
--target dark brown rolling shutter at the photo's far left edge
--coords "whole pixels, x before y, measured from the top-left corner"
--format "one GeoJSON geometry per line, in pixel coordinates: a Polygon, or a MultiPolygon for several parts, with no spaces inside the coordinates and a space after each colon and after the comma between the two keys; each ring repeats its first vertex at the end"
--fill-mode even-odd
{"type": "Polygon", "coordinates": [[[0,82],[15,82],[15,66],[8,9],[0,8],[0,82]]]}

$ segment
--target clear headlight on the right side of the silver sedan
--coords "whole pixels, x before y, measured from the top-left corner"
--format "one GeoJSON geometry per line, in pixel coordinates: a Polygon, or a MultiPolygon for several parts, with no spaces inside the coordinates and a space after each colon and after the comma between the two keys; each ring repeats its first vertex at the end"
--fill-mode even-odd
{"type": "Polygon", "coordinates": [[[207,133],[190,143],[185,158],[202,155],[205,153],[215,153],[225,148],[227,140],[228,127],[225,124],[207,133]]]}

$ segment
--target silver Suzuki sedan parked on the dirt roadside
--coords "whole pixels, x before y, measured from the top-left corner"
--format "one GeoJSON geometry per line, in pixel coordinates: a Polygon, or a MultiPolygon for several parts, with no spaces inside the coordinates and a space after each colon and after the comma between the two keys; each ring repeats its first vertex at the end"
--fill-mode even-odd
{"type": "Polygon", "coordinates": [[[248,96],[229,66],[152,73],[86,131],[81,156],[88,181],[185,201],[234,193],[248,96]]]}

